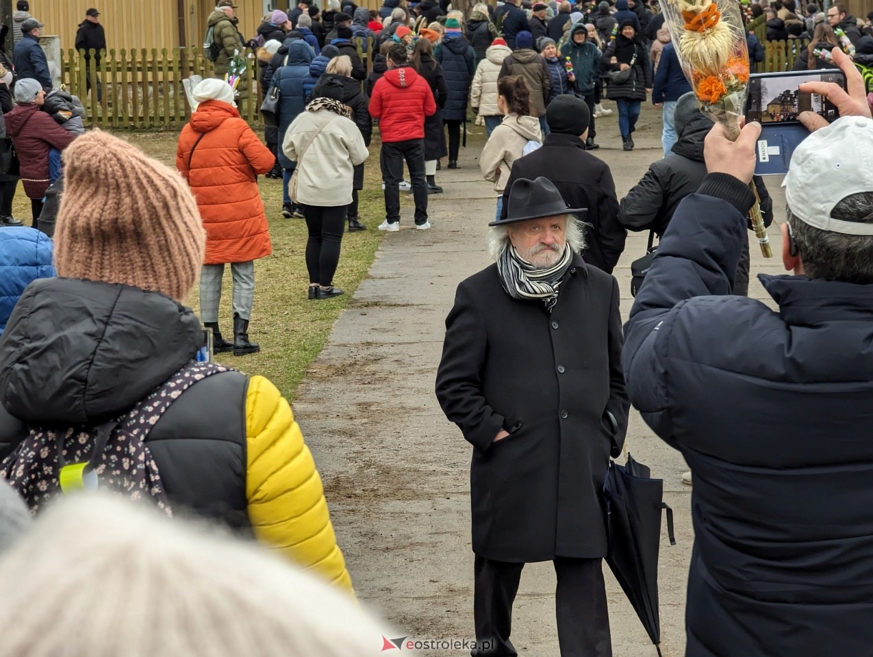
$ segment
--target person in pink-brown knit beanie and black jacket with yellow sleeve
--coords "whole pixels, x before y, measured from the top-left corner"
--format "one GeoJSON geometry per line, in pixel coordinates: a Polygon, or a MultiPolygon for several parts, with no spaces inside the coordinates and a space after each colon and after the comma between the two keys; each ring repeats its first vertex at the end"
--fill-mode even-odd
{"type": "Polygon", "coordinates": [[[206,250],[188,184],[100,130],[72,143],[64,175],[58,277],[27,287],[0,339],[0,474],[34,510],[35,498],[60,492],[58,453],[100,455],[95,476],[109,487],[107,463],[126,436],[122,453],[138,451],[175,516],[190,510],[254,534],[349,590],[313,456],[278,389],[214,363],[176,386],[203,345],[182,305],[206,250]]]}

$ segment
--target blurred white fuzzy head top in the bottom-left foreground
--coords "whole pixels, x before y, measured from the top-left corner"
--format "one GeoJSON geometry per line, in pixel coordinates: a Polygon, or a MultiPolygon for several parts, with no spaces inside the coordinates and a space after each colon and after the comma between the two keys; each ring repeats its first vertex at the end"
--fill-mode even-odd
{"type": "Polygon", "coordinates": [[[2,654],[378,654],[347,592],[227,532],[118,496],[61,496],[0,562],[2,654]]]}

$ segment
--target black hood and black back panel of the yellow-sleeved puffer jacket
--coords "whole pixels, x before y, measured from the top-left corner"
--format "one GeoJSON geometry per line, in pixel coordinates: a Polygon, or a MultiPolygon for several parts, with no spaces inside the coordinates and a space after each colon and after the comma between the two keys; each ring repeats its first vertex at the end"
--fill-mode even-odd
{"type": "MultiPolygon", "coordinates": [[[[120,284],[45,278],[24,291],[0,341],[0,458],[25,422],[71,427],[119,416],[194,358],[203,341],[189,308],[120,284]]],[[[168,496],[233,527],[246,510],[243,373],[186,390],[146,444],[168,496]]]]}

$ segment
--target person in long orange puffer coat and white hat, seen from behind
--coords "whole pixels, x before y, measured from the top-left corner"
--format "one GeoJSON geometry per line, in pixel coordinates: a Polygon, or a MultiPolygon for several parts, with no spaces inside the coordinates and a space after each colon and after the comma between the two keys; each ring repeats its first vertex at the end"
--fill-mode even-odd
{"type": "Polygon", "coordinates": [[[260,351],[249,340],[255,260],[269,256],[272,244],[258,174],[272,170],[276,158],[240,118],[226,82],[205,79],[193,96],[198,105],[179,135],[175,166],[196,196],[206,229],[200,315],[212,329],[216,352],[243,356],[260,351]],[[218,327],[225,263],[233,276],[233,342],[218,327]]]}

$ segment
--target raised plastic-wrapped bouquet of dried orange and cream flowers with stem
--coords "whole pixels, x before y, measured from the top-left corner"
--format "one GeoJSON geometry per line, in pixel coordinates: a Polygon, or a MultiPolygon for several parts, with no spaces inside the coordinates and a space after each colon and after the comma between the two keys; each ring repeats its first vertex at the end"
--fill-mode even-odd
{"type": "MultiPolygon", "coordinates": [[[[749,54],[737,0],[664,0],[664,23],[700,109],[739,137],[746,112],[749,54]]],[[[752,185],[755,191],[754,184],[752,185]]],[[[755,191],[755,198],[757,198],[755,191]]],[[[764,257],[773,257],[760,203],[749,213],[764,257]]]]}

